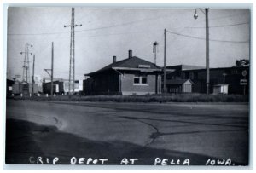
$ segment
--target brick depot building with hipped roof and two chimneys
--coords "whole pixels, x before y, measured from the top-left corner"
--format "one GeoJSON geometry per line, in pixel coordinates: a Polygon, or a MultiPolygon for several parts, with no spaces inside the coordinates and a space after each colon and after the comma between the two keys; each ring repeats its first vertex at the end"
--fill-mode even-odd
{"type": "Polygon", "coordinates": [[[146,95],[161,93],[162,69],[154,63],[132,55],[102,69],[84,74],[85,95],[146,95]]]}

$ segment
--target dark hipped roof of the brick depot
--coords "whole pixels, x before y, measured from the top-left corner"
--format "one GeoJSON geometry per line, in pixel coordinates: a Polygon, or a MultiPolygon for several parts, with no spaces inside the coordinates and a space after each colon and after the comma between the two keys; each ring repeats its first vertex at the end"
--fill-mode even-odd
{"type": "MultiPolygon", "coordinates": [[[[116,61],[112,64],[109,64],[108,66],[103,67],[102,69],[96,71],[96,72],[90,72],[88,74],[85,74],[86,76],[94,75],[99,72],[108,71],[111,69],[123,69],[123,70],[139,70],[143,69],[143,67],[139,67],[139,65],[147,66],[147,69],[151,70],[161,70],[160,66],[156,66],[154,63],[145,61],[141,58],[138,58],[137,56],[132,56],[131,58],[127,58],[122,61],[116,61]]],[[[144,68],[145,69],[145,68],[144,68]]]]}

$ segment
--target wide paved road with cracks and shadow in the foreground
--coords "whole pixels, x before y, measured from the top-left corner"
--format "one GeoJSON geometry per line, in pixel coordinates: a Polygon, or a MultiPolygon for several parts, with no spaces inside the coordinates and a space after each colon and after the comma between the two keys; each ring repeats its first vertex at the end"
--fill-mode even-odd
{"type": "MultiPolygon", "coordinates": [[[[8,163],[75,156],[248,164],[248,105],[7,101],[8,163]]],[[[44,161],[45,164],[45,161],[44,161]]],[[[170,163],[169,163],[170,164],[170,163]]]]}

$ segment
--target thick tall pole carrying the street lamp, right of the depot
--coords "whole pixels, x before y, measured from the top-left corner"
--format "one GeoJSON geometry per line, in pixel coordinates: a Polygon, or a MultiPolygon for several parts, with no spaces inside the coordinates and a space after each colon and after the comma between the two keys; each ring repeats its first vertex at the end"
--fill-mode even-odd
{"type": "Polygon", "coordinates": [[[209,95],[210,87],[210,69],[209,69],[209,21],[208,21],[209,9],[206,8],[206,58],[207,58],[207,95],[209,95]]]}

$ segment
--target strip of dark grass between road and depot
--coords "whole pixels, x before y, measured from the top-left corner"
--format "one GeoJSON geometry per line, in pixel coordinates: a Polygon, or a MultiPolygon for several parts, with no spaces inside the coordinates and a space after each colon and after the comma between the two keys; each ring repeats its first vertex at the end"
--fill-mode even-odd
{"type": "Polygon", "coordinates": [[[204,95],[204,94],[162,94],[162,95],[45,95],[11,97],[17,100],[35,101],[113,101],[113,102],[248,102],[248,95],[204,95]]]}

